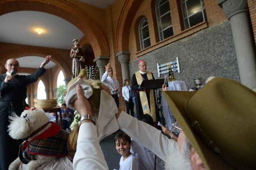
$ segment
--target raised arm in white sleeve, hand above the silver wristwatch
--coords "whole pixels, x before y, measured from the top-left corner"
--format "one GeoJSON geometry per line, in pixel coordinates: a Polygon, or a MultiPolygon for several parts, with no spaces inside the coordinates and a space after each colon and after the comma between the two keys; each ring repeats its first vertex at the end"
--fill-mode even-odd
{"type": "MultiPolygon", "coordinates": [[[[93,116],[90,103],[84,97],[84,93],[80,85],[76,86],[76,93],[78,99],[74,102],[74,107],[78,113],[81,116],[93,116]]],[[[78,133],[76,154],[73,160],[73,168],[74,170],[86,168],[98,170],[108,169],[108,165],[98,141],[96,126],[91,120],[86,119],[81,122],[78,133]]]]}

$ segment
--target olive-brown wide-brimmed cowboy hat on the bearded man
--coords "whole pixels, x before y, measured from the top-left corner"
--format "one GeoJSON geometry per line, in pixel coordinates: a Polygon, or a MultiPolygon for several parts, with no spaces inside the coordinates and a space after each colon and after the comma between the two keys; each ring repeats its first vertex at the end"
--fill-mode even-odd
{"type": "Polygon", "coordinates": [[[214,78],[197,92],[164,96],[207,169],[256,168],[256,92],[214,78]]]}

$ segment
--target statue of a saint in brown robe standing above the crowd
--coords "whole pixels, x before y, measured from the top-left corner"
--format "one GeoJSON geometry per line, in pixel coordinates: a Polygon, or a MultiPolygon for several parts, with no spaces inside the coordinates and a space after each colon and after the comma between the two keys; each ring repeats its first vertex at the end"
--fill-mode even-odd
{"type": "Polygon", "coordinates": [[[74,47],[70,51],[70,57],[72,58],[72,78],[78,76],[81,69],[84,68],[83,63],[85,62],[83,49],[79,47],[77,39],[73,39],[74,47]]]}

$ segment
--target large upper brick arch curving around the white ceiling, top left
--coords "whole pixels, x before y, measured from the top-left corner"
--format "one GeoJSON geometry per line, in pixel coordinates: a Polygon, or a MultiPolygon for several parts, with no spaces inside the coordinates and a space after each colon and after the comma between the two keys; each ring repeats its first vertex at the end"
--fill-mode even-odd
{"type": "Polygon", "coordinates": [[[16,11],[46,12],[69,21],[87,35],[95,56],[109,56],[106,37],[97,23],[75,2],[67,0],[5,0],[0,2],[0,16],[16,11]]]}

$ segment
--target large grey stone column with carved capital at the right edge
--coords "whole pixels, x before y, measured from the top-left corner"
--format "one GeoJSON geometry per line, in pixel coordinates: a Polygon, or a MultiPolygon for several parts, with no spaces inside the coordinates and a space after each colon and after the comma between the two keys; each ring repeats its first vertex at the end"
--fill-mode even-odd
{"type": "Polygon", "coordinates": [[[256,58],[247,0],[217,0],[230,20],[241,83],[256,89],[256,58]]]}

